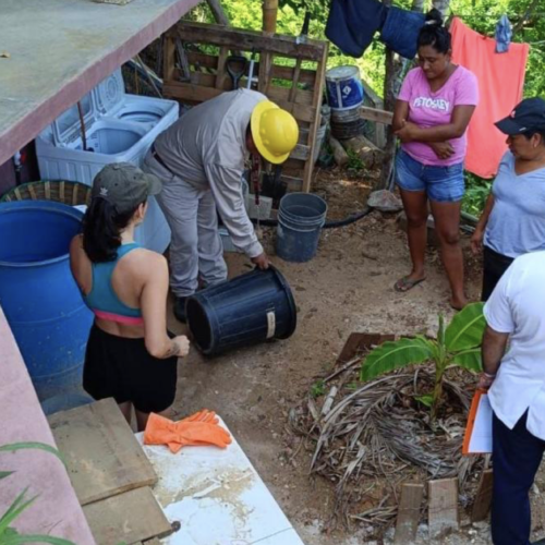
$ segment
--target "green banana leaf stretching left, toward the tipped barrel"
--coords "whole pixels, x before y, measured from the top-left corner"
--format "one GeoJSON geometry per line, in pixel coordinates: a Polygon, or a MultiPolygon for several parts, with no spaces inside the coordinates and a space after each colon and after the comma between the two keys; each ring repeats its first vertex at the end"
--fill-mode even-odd
{"type": "Polygon", "coordinates": [[[387,341],[362,362],[361,380],[371,380],[390,371],[432,359],[433,344],[422,337],[387,341]]]}

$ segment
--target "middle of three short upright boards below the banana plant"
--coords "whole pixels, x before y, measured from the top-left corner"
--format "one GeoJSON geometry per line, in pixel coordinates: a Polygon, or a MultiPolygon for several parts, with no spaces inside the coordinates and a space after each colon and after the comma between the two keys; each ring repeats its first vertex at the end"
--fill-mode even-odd
{"type": "Polygon", "coordinates": [[[458,530],[458,479],[429,481],[428,504],[431,538],[458,530]]]}

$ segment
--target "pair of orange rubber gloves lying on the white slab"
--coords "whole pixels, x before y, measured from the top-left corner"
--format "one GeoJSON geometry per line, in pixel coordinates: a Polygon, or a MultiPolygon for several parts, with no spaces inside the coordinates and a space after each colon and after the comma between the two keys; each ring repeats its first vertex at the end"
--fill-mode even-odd
{"type": "MultiPolygon", "coordinates": [[[[202,417],[209,421],[216,421],[217,417],[210,411],[201,411],[192,417],[202,417]],[[198,415],[198,416],[197,416],[198,415]]],[[[168,445],[171,452],[178,452],[182,447],[187,445],[205,446],[215,445],[220,448],[226,448],[232,441],[229,433],[213,422],[199,421],[181,421],[172,422],[165,416],[152,413],[147,421],[144,432],[145,445],[168,445]]]]}

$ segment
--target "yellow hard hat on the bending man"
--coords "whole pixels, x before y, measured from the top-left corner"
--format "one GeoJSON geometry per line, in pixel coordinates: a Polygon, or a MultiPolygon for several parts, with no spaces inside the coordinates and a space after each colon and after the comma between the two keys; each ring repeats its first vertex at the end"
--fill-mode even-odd
{"type": "Polygon", "coordinates": [[[288,159],[298,145],[295,118],[269,100],[263,100],[254,108],[251,129],[259,155],[274,165],[288,159]]]}

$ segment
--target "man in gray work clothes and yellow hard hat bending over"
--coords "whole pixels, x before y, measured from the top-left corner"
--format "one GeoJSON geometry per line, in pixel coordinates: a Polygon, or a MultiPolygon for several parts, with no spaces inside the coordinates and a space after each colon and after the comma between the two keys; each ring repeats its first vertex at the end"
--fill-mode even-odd
{"type": "Polygon", "coordinates": [[[261,93],[237,89],[192,108],[155,141],[143,170],[162,182],[158,203],[172,231],[170,287],[180,322],[199,277],[205,287],[227,279],[217,211],[233,244],[259,268],[268,267],[241,179],[250,154],[279,165],[298,138],[291,113],[261,93]]]}

